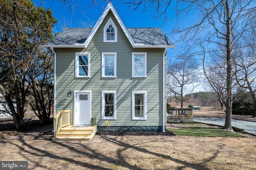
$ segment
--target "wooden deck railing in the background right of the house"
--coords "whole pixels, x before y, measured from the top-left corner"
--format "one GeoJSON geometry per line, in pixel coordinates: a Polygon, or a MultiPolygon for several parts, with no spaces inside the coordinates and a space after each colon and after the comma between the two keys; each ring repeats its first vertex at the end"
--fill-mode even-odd
{"type": "Polygon", "coordinates": [[[193,117],[193,109],[167,108],[167,117],[193,117]]]}

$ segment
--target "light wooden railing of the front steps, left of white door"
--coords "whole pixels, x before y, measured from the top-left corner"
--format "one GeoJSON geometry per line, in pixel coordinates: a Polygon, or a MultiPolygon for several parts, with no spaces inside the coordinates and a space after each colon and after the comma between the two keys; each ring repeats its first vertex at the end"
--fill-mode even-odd
{"type": "Polygon", "coordinates": [[[68,126],[70,123],[70,110],[60,110],[54,117],[54,137],[62,127],[68,126]]]}

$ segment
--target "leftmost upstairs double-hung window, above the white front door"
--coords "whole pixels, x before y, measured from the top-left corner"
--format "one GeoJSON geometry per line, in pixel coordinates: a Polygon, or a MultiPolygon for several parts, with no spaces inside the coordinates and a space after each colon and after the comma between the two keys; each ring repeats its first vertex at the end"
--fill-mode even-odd
{"type": "Polygon", "coordinates": [[[90,53],[76,53],[76,77],[90,77],[90,53]]]}

